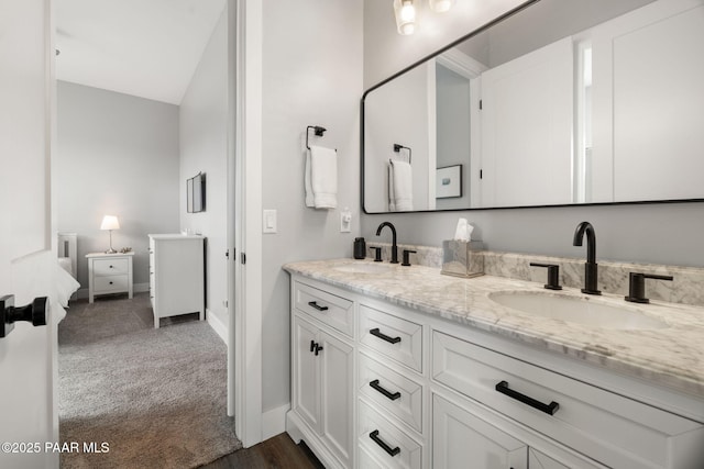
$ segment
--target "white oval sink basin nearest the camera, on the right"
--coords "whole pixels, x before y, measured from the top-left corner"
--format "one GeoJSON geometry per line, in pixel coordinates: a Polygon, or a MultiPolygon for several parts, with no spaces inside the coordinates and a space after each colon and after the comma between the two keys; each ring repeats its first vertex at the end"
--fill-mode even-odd
{"type": "Polygon", "coordinates": [[[610,330],[659,330],[668,324],[654,317],[598,299],[538,292],[497,292],[490,299],[535,316],[610,330]]]}

